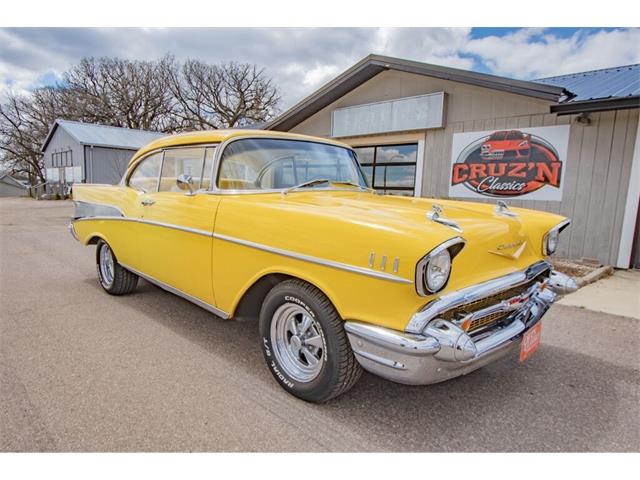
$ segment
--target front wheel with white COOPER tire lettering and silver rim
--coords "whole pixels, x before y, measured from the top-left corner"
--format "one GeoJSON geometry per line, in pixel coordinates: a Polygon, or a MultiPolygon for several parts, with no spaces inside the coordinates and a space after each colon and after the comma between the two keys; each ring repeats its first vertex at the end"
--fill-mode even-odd
{"type": "Polygon", "coordinates": [[[320,290],[301,280],[286,280],[267,294],[260,337],[274,378],[303,400],[337,397],[362,373],[338,312],[320,290]]]}

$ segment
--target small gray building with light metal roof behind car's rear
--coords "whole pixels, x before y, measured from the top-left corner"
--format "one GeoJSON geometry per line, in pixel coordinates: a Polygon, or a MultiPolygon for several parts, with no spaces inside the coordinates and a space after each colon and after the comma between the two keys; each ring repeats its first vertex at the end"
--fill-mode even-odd
{"type": "Polygon", "coordinates": [[[58,190],[75,182],[118,183],[136,150],[162,136],[58,119],[42,144],[47,183],[58,190]]]}

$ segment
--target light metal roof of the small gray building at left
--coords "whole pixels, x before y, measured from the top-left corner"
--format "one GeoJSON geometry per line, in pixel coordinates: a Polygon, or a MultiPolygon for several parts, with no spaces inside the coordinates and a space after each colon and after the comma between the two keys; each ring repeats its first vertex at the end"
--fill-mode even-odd
{"type": "Polygon", "coordinates": [[[138,150],[147,143],[166,136],[165,133],[149,132],[147,130],[134,130],[131,128],[110,127],[92,123],[72,122],[58,119],[55,121],[47,138],[42,144],[42,151],[47,148],[56,128],[63,128],[78,143],[93,145],[96,147],[123,148],[138,150]]]}

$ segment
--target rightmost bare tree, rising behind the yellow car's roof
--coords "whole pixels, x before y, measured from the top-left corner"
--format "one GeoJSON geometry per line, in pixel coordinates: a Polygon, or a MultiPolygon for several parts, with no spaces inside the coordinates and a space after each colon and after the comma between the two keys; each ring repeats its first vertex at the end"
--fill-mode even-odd
{"type": "Polygon", "coordinates": [[[175,115],[185,129],[231,128],[264,122],[277,113],[278,89],[248,63],[167,63],[175,115]]]}

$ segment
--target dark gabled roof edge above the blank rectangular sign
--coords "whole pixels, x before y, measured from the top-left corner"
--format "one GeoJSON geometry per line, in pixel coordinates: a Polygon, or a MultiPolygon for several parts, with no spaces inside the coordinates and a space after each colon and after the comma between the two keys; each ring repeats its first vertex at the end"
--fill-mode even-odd
{"type": "Polygon", "coordinates": [[[338,98],[385,70],[398,70],[415,73],[417,75],[442,78],[454,82],[541,98],[551,102],[557,102],[563,94],[567,93],[562,86],[514,80],[512,78],[488,75],[486,73],[470,72],[468,70],[372,54],[360,60],[326,85],[320,87],[307,98],[269,122],[264,128],[267,130],[290,130],[338,98]]]}

